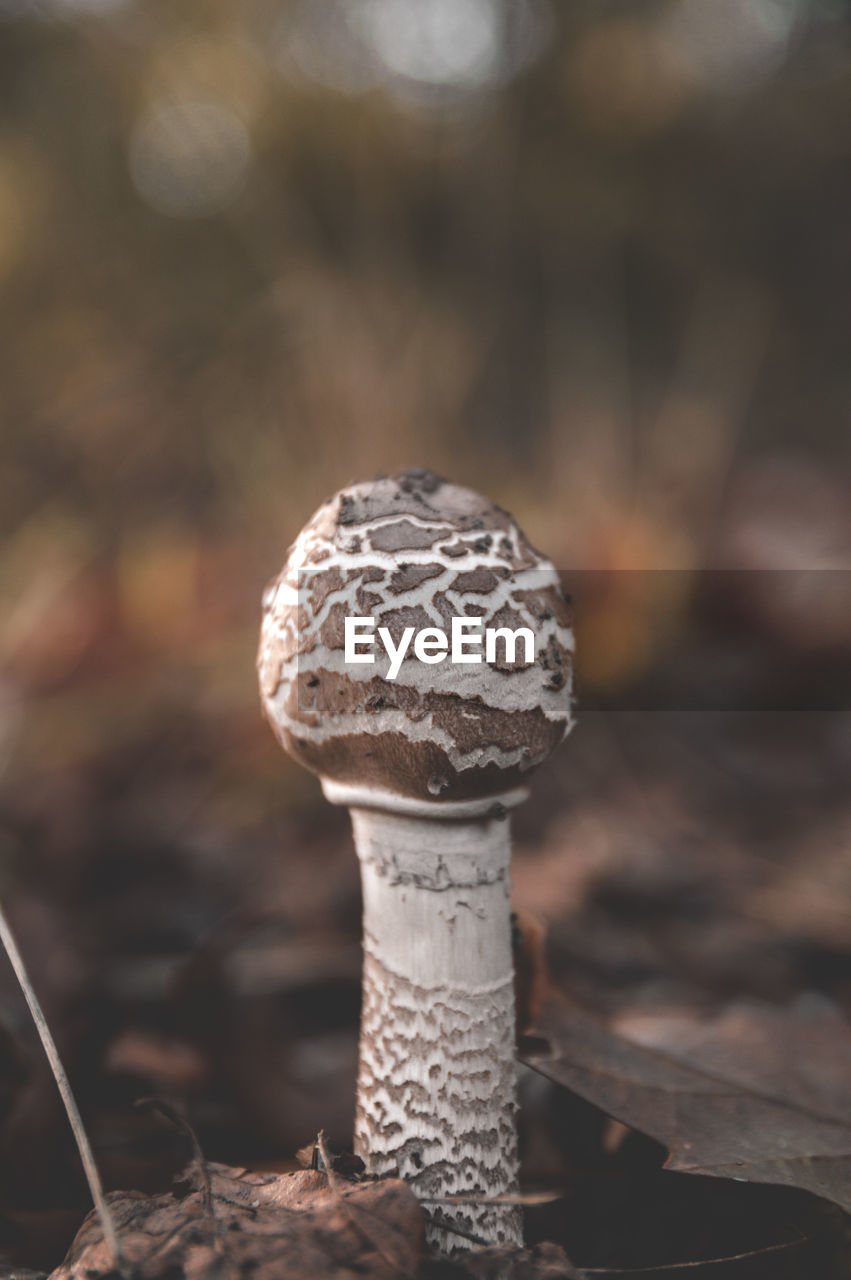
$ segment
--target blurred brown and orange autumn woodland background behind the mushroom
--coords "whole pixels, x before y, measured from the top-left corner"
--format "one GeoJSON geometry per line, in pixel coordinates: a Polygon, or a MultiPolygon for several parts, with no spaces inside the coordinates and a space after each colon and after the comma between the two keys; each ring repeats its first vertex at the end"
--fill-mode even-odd
{"type": "MultiPolygon", "coordinates": [[[[0,0],[0,883],[110,1185],[186,1157],[142,1094],[211,1158],[348,1142],[356,863],[253,657],[378,471],[482,489],[575,596],[578,727],[516,822],[557,986],[851,1006],[850,37],[841,0],[0,0]]],[[[5,970],[0,1033],[0,1253],[42,1265],[87,1198],[5,970]]]]}

